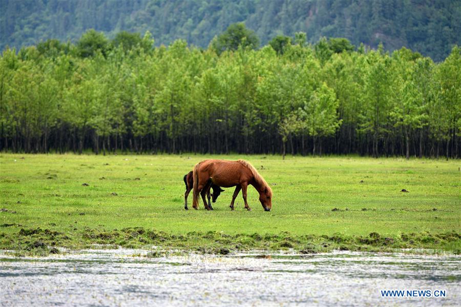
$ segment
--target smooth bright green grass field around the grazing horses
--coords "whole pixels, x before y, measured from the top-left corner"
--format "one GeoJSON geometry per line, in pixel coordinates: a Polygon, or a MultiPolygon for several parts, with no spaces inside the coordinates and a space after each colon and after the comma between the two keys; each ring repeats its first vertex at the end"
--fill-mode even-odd
{"type": "MultiPolygon", "coordinates": [[[[381,237],[399,237],[402,233],[435,235],[454,231],[458,238],[447,243],[446,249],[457,249],[461,226],[460,166],[459,160],[361,157],[282,160],[280,156],[264,155],[104,157],[3,153],[0,207],[7,211],[0,212],[2,247],[20,248],[20,229],[48,229],[78,238],[86,232],[140,227],[162,231],[173,238],[209,231],[269,237],[281,232],[296,237],[366,237],[372,232],[381,237]],[[273,209],[264,212],[258,193],[248,187],[248,203],[253,211],[244,209],[241,194],[236,210],[229,209],[233,188],[221,194],[214,211],[204,210],[203,203],[199,210],[193,210],[191,192],[191,209],[184,210],[183,176],[195,163],[207,158],[245,159],[252,163],[273,188],[273,209]]],[[[103,236],[98,239],[104,242],[103,236]]],[[[65,240],[58,240],[60,244],[67,245],[65,240]]]]}

